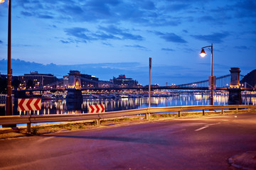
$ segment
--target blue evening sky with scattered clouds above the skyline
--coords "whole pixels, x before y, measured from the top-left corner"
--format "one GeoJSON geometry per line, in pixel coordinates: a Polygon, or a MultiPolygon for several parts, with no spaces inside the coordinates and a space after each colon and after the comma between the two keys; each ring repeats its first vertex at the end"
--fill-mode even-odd
{"type": "MultiPolygon", "coordinates": [[[[6,0],[0,4],[3,63],[7,15],[6,0]]],[[[11,33],[14,75],[38,69],[61,77],[78,69],[103,80],[126,74],[146,85],[152,57],[152,84],[183,84],[208,79],[210,50],[204,58],[198,53],[211,43],[215,76],[230,67],[244,75],[255,69],[256,1],[12,0],[11,33]]]]}

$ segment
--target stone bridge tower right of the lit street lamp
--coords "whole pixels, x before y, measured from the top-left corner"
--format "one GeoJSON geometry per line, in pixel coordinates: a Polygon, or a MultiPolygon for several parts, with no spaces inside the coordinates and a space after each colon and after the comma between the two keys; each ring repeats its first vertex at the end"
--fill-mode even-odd
{"type": "Polygon", "coordinates": [[[228,87],[229,96],[228,104],[229,105],[240,105],[242,104],[242,96],[240,89],[240,69],[233,67],[230,69],[230,86],[228,87]]]}

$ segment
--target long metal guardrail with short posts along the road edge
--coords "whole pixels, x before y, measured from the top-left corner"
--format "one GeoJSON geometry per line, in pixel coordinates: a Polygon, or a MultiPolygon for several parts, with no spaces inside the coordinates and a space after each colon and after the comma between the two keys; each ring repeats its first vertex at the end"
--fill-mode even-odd
{"type": "Polygon", "coordinates": [[[16,125],[27,124],[27,132],[31,132],[31,123],[50,123],[50,122],[65,122],[65,121],[78,121],[78,120],[96,120],[100,125],[100,120],[110,118],[120,118],[129,115],[145,115],[146,119],[150,118],[151,113],[170,113],[178,112],[178,117],[181,116],[182,111],[202,111],[203,115],[205,110],[214,111],[223,109],[256,109],[254,105],[213,105],[213,106],[174,106],[174,107],[154,107],[154,108],[138,108],[125,111],[112,111],[105,113],[79,113],[70,115],[7,115],[0,116],[0,125],[16,125]]]}

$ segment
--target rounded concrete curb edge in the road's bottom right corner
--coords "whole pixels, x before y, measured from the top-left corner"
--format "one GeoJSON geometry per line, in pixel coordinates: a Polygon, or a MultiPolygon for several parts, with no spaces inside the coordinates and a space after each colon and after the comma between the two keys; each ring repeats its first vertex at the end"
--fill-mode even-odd
{"type": "Polygon", "coordinates": [[[248,151],[236,154],[228,159],[228,163],[238,169],[256,169],[256,151],[248,151]]]}

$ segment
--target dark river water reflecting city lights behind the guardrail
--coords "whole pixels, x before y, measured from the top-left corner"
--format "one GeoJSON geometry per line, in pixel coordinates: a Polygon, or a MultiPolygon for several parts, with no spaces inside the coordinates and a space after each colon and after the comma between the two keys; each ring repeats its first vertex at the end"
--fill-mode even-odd
{"type": "MultiPolygon", "coordinates": [[[[215,94],[214,105],[228,105],[228,94],[215,94]]],[[[74,114],[87,113],[88,105],[103,104],[105,111],[122,111],[134,108],[147,108],[149,98],[90,98],[84,99],[81,103],[67,103],[65,99],[43,100],[41,111],[36,111],[35,115],[43,114],[74,114]]],[[[255,95],[242,95],[242,104],[256,105],[255,95]]],[[[200,106],[210,105],[210,95],[208,94],[177,94],[168,97],[151,97],[151,107],[166,106],[200,106]]],[[[4,115],[4,106],[0,107],[0,115],[4,115]]],[[[26,113],[14,113],[14,115],[24,115],[26,113]]]]}

